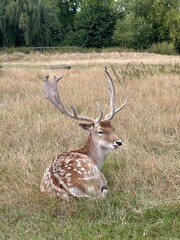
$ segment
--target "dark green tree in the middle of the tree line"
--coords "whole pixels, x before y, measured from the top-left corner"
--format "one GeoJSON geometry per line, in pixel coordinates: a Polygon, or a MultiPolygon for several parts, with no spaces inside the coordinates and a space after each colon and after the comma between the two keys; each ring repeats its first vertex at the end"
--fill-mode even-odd
{"type": "Polygon", "coordinates": [[[75,16],[70,44],[88,48],[111,45],[115,20],[110,1],[83,1],[81,10],[75,16]]]}

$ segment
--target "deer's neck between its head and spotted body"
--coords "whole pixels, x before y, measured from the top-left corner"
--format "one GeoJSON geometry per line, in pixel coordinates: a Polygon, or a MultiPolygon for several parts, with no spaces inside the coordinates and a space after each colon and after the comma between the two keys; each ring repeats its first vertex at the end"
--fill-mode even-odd
{"type": "Polygon", "coordinates": [[[93,141],[92,135],[90,133],[85,146],[78,152],[86,154],[87,156],[92,158],[96,162],[98,169],[101,169],[105,157],[109,153],[109,150],[98,146],[98,144],[93,141]]]}

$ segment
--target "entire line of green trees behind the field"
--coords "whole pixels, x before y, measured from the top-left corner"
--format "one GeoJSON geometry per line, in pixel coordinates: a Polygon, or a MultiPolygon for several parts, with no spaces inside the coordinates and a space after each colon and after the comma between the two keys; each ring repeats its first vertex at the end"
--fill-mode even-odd
{"type": "Polygon", "coordinates": [[[179,0],[1,0],[0,46],[180,51],[179,0]]]}

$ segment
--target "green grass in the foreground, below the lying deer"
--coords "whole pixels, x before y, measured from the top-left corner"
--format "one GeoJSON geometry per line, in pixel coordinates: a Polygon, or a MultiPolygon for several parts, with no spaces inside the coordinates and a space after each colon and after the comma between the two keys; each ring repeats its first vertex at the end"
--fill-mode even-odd
{"type": "Polygon", "coordinates": [[[44,200],[36,207],[4,206],[1,240],[180,239],[180,208],[147,208],[134,196],[105,200],[44,200]]]}

